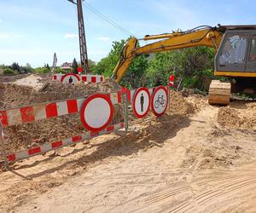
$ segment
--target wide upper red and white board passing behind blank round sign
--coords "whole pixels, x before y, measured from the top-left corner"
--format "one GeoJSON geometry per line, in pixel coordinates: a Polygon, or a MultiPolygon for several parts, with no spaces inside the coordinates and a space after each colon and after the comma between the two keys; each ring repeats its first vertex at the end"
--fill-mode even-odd
{"type": "MultiPolygon", "coordinates": [[[[111,93],[107,95],[113,104],[121,102],[120,93],[111,93]]],[[[62,115],[80,112],[85,98],[70,99],[66,101],[50,102],[44,105],[36,105],[30,107],[20,107],[6,111],[0,111],[2,115],[3,127],[15,124],[26,124],[34,121],[55,118],[62,115]]]]}

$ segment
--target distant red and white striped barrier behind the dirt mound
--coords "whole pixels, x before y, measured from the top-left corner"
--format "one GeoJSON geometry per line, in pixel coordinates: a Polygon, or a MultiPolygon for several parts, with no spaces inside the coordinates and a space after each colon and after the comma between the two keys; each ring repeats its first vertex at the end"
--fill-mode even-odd
{"type": "Polygon", "coordinates": [[[54,74],[52,80],[66,83],[64,79],[69,77],[72,77],[72,78],[75,77],[75,78],[78,78],[79,81],[88,82],[88,83],[101,83],[104,81],[104,77],[100,75],[79,75],[74,73],[54,74]]]}

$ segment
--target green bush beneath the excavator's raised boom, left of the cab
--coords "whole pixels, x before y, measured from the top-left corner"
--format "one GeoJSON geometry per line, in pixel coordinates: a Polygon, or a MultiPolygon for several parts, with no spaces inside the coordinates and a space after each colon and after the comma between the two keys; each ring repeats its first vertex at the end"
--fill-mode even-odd
{"type": "Polygon", "coordinates": [[[160,52],[150,60],[147,82],[150,86],[166,84],[170,74],[183,78],[183,86],[207,90],[213,78],[214,49],[195,47],[160,52]]]}

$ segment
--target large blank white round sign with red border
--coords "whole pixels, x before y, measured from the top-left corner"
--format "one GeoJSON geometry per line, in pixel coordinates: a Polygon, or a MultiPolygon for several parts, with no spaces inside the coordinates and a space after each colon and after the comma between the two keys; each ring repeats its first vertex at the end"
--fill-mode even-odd
{"type": "Polygon", "coordinates": [[[85,129],[98,132],[104,130],[113,118],[113,104],[107,95],[90,95],[84,101],[80,112],[85,129]]]}

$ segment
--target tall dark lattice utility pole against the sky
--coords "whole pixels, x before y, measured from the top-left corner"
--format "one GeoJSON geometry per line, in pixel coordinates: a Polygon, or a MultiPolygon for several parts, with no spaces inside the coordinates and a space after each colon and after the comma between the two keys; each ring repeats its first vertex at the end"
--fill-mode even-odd
{"type": "Polygon", "coordinates": [[[74,0],[67,0],[67,1],[76,4],[78,8],[80,60],[81,60],[83,73],[88,74],[89,66],[88,66],[88,55],[87,55],[87,48],[86,48],[85,32],[84,32],[84,16],[83,16],[82,0],[77,0],[76,3],[74,2],[74,0]]]}

